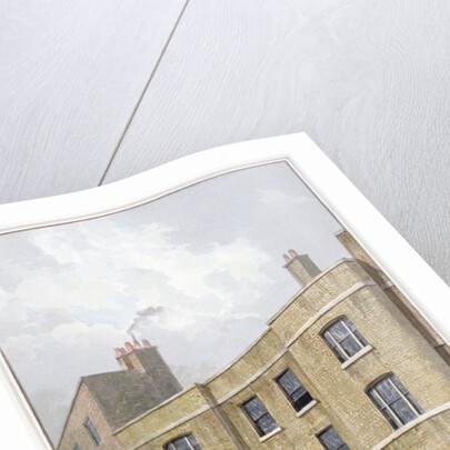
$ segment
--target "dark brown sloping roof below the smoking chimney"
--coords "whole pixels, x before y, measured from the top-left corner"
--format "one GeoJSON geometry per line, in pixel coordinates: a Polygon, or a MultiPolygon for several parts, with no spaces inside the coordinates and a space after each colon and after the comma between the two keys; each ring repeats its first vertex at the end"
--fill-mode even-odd
{"type": "Polygon", "coordinates": [[[141,416],[167,399],[148,373],[114,371],[82,377],[111,430],[141,416]]]}

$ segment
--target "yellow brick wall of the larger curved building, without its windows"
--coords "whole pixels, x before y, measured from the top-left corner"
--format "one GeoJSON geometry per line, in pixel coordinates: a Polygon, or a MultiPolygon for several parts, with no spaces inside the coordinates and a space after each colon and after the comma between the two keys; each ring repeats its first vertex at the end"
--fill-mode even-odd
{"type": "MultiPolygon", "coordinates": [[[[192,432],[203,450],[320,450],[316,433],[332,424],[351,449],[370,449],[393,430],[364,391],[390,372],[426,411],[450,401],[449,367],[360,266],[343,261],[301,291],[270,321],[253,347],[206,382],[212,402],[192,388],[124,427],[117,437],[126,449],[137,448],[147,436],[148,442],[141,448],[161,450],[173,437],[192,432]],[[342,314],[371,346],[347,368],[320,336],[323,327],[342,314]],[[300,417],[274,382],[286,368],[317,399],[317,404],[300,417]],[[253,394],[280,427],[269,438],[258,436],[240,408],[253,394]]],[[[434,433],[433,439],[440,441],[450,432],[450,422],[430,419],[414,432],[421,433],[422,440],[434,433]]],[[[392,449],[409,448],[401,447],[409,439],[402,437],[396,443],[400,447],[392,449]]]]}

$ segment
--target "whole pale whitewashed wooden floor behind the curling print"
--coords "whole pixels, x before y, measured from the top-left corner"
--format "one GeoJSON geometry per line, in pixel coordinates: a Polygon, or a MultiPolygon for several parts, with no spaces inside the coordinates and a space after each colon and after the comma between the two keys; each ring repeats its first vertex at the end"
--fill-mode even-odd
{"type": "Polygon", "coordinates": [[[450,282],[446,0],[4,0],[0,201],[307,131],[450,282]]]}

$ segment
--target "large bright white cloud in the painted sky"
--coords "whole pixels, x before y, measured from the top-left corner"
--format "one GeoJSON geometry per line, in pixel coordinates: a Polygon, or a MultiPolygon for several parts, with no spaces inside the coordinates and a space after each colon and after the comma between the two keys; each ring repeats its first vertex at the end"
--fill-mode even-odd
{"type": "MultiPolygon", "coordinates": [[[[90,312],[106,310],[131,321],[137,310],[162,306],[163,314],[153,320],[176,331],[212,330],[218,320],[254,318],[254,302],[273,282],[262,271],[269,256],[242,239],[196,251],[173,246],[176,232],[144,223],[131,233],[103,219],[30,233],[51,263],[21,268],[17,288],[0,291],[0,308],[13,299],[18,314],[53,309],[77,313],[81,308],[88,321],[90,312]]],[[[10,270],[17,276],[17,266],[10,270]]]]}

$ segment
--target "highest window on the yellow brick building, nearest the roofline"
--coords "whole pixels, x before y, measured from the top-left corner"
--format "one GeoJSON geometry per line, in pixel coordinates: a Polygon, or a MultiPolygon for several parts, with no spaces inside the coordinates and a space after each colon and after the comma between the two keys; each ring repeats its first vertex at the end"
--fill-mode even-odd
{"type": "Polygon", "coordinates": [[[341,362],[347,361],[368,344],[347,317],[341,317],[327,327],[322,337],[341,362]]]}

